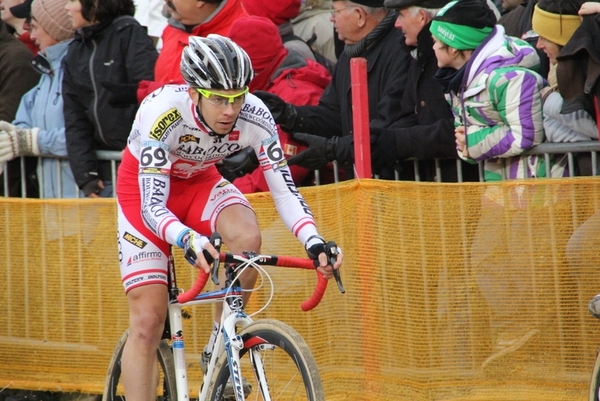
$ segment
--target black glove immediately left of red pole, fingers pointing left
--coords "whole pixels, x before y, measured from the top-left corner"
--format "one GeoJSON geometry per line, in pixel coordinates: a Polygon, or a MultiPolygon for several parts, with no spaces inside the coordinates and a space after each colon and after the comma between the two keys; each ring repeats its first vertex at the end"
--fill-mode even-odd
{"type": "Polygon", "coordinates": [[[298,165],[310,170],[318,170],[327,163],[337,160],[341,165],[354,162],[354,141],[352,136],[323,138],[317,135],[296,133],[293,138],[304,142],[308,149],[290,157],[290,166],[298,165]]]}

